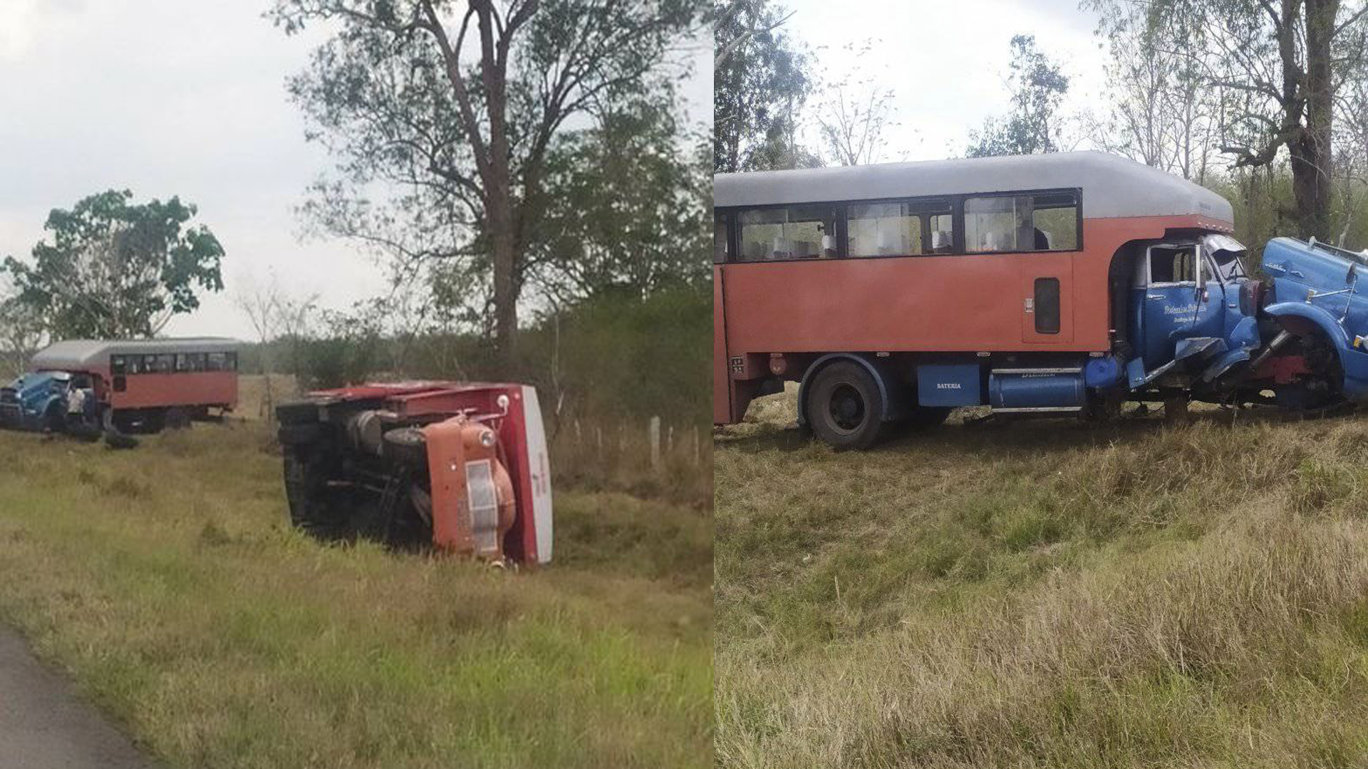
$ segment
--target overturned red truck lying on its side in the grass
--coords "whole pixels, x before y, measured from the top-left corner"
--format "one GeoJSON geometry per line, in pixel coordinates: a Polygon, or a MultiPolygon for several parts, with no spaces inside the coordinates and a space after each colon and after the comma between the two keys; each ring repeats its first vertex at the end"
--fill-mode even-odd
{"type": "Polygon", "coordinates": [[[309,393],[276,417],[290,519],[302,531],[495,565],[551,560],[550,464],[532,387],[364,384],[309,393]]]}

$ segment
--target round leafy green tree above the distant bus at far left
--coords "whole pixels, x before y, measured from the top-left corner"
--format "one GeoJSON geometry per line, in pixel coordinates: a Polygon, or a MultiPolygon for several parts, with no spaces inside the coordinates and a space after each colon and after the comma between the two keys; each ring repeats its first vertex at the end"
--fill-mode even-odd
{"type": "Polygon", "coordinates": [[[49,337],[152,337],[198,308],[198,291],[223,290],[223,246],[208,227],[187,226],[194,205],[131,200],[109,190],[53,209],[33,261],[5,259],[16,301],[49,337]]]}

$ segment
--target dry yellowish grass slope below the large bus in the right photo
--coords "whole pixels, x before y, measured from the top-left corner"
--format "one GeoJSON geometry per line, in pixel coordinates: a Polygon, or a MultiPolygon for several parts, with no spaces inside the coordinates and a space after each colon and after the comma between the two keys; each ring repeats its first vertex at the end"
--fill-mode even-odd
{"type": "Polygon", "coordinates": [[[1368,765],[1368,417],[715,435],[732,768],[1368,765]]]}

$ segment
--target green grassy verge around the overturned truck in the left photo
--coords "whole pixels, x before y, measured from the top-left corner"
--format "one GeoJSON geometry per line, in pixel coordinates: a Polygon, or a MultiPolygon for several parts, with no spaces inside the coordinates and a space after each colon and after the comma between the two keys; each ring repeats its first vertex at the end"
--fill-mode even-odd
{"type": "Polygon", "coordinates": [[[170,766],[713,762],[696,508],[557,488],[503,573],[297,535],[252,423],[0,458],[0,620],[170,766]]]}

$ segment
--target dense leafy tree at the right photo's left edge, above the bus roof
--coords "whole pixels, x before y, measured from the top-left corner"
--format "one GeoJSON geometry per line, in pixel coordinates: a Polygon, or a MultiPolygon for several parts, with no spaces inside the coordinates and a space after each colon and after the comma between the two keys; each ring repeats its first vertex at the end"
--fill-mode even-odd
{"type": "Polygon", "coordinates": [[[796,138],[813,83],[807,55],[780,29],[792,14],[772,0],[714,8],[714,171],[821,166],[796,138]]]}

